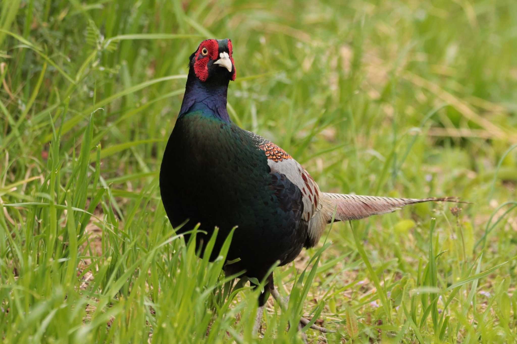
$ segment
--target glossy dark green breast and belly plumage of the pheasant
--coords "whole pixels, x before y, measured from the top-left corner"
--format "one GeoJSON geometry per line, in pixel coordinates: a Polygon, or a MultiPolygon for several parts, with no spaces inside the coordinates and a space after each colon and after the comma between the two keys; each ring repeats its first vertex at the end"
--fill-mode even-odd
{"type": "Polygon", "coordinates": [[[198,245],[220,228],[212,259],[238,226],[227,259],[240,258],[232,270],[260,279],[277,260],[294,260],[307,240],[302,194],[284,175],[270,173],[258,148],[263,138],[207,112],[176,121],[160,172],[163,204],[174,227],[189,219],[179,232],[201,223],[208,235],[197,234],[198,245]]]}

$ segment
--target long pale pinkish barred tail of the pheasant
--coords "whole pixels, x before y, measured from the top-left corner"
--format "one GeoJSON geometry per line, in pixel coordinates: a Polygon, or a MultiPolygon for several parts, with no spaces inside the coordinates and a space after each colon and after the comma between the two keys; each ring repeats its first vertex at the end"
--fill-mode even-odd
{"type": "Polygon", "coordinates": [[[404,206],[422,202],[468,203],[460,201],[458,197],[417,199],[323,193],[322,198],[325,204],[328,222],[332,219],[334,208],[336,209],[336,218],[334,221],[348,221],[359,220],[360,218],[371,215],[390,213],[404,206]]]}

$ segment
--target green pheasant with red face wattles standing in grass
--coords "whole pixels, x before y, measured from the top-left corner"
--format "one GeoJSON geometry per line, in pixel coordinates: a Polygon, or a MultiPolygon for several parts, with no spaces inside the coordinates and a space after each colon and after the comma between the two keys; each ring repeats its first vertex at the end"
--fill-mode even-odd
{"type": "MultiPolygon", "coordinates": [[[[296,160],[267,139],[239,128],[226,111],[229,82],[235,80],[232,42],[208,39],[189,58],[185,96],[166,146],[160,169],[163,205],[178,232],[197,223],[207,234],[197,234],[204,249],[214,227],[219,235],[212,259],[234,226],[227,260],[233,274],[268,285],[259,302],[255,329],[269,294],[277,301],[272,274],[277,261],[293,261],[303,247],[313,247],[327,224],[383,214],[406,205],[456,198],[388,198],[331,194],[320,188],[296,160]]],[[[188,237],[188,236],[187,236],[188,237]]],[[[188,240],[188,238],[186,238],[188,240]]],[[[307,323],[307,319],[301,321],[307,323]]],[[[313,328],[326,331],[313,326],[313,328]]]]}

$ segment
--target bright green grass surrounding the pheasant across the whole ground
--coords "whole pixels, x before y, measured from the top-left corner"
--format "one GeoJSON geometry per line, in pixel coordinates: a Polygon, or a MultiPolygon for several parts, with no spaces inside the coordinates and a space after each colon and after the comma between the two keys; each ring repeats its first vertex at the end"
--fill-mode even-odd
{"type": "Polygon", "coordinates": [[[301,315],[338,331],[312,342],[516,341],[515,1],[0,11],[3,342],[301,342],[285,331],[301,315]],[[232,119],[323,191],[473,204],[333,224],[275,270],[289,309],[270,301],[257,339],[259,291],[196,258],[159,195],[188,56],[207,37],[234,44],[232,119]]]}

